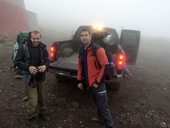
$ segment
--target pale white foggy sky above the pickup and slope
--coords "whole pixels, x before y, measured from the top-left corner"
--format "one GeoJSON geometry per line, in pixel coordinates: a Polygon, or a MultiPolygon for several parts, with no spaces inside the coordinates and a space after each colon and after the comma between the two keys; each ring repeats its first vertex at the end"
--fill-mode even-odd
{"type": "Polygon", "coordinates": [[[39,23],[53,30],[75,30],[100,23],[170,38],[170,0],[24,0],[39,23]]]}

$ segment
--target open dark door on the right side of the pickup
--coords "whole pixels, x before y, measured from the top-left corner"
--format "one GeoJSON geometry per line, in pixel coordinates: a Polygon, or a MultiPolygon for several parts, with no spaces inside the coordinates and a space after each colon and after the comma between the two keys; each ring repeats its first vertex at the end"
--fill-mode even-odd
{"type": "Polygon", "coordinates": [[[135,64],[140,43],[140,31],[123,29],[120,36],[120,45],[123,47],[127,64],[135,64]]]}

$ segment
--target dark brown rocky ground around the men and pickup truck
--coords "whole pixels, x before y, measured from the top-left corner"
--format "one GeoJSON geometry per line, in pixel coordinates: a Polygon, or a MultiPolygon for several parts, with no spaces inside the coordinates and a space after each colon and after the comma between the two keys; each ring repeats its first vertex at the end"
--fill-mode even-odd
{"type": "MultiPolygon", "coordinates": [[[[129,67],[133,76],[108,91],[115,128],[170,128],[170,43],[162,44],[143,40],[137,64],[129,67]]],[[[24,86],[9,70],[11,53],[10,43],[0,43],[0,128],[26,128],[24,86]]],[[[104,128],[89,120],[95,105],[75,84],[58,83],[49,72],[46,88],[50,121],[42,128],[104,128]]]]}

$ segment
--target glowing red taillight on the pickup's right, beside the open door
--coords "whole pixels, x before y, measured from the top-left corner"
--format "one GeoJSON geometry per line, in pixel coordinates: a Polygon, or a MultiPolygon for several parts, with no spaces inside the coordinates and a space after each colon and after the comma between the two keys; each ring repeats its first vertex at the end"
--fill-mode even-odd
{"type": "Polygon", "coordinates": [[[125,65],[125,55],[124,54],[118,54],[117,56],[117,63],[116,66],[118,69],[123,69],[125,65]]]}

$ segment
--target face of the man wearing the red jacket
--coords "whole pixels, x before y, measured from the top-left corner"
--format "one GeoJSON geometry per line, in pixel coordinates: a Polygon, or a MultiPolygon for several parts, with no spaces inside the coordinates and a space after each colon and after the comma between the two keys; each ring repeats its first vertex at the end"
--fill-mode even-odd
{"type": "Polygon", "coordinates": [[[91,41],[91,35],[88,31],[82,31],[80,33],[80,40],[82,42],[83,45],[87,45],[90,43],[91,41]]]}

